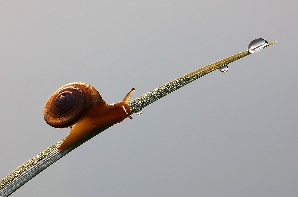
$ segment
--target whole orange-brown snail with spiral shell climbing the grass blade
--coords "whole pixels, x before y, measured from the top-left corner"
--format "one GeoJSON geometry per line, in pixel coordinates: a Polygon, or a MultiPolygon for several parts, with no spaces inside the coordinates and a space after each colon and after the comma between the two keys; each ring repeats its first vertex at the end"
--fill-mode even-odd
{"type": "Polygon", "coordinates": [[[128,100],[134,90],[115,104],[106,104],[93,86],[83,82],[66,84],[56,90],[46,101],[44,119],[55,128],[70,127],[58,151],[74,144],[94,127],[120,123],[127,117],[132,119],[128,100]]]}

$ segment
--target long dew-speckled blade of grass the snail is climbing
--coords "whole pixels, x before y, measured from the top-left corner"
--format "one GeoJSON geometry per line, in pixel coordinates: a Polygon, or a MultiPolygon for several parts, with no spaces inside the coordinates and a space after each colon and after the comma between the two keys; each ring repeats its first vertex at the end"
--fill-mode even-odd
{"type": "MultiPolygon", "coordinates": [[[[270,44],[273,44],[273,43],[270,43],[270,44]]],[[[143,94],[142,96],[139,96],[138,98],[133,99],[128,103],[128,105],[131,107],[131,114],[135,113],[139,109],[146,107],[147,105],[153,103],[159,98],[162,98],[167,94],[179,89],[180,87],[214,70],[217,70],[222,65],[230,64],[231,62],[236,61],[240,58],[243,58],[249,54],[250,53],[248,51],[243,51],[236,55],[214,62],[198,70],[195,70],[187,75],[184,75],[174,81],[170,81],[167,84],[164,84],[154,90],[151,90],[148,93],[143,94]]],[[[36,155],[26,163],[17,167],[15,170],[13,170],[13,172],[5,176],[0,181],[0,196],[2,197],[9,196],[15,190],[17,190],[19,187],[25,184],[27,181],[29,181],[31,178],[33,178],[38,173],[40,173],[41,171],[49,167],[51,164],[58,161],[58,159],[62,158],[63,156],[65,156],[75,148],[79,147],[81,144],[85,143],[86,141],[98,135],[99,133],[103,132],[104,130],[108,129],[109,127],[103,127],[103,128],[92,130],[82,139],[77,141],[72,146],[66,148],[62,152],[58,152],[58,147],[63,142],[64,138],[56,142],[55,144],[53,144],[43,152],[39,153],[38,155],[36,155]]]]}

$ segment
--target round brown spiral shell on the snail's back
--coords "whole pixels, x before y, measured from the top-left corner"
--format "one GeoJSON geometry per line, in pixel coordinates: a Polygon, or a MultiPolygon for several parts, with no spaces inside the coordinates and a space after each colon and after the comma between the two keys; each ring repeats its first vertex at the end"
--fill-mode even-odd
{"type": "Polygon", "coordinates": [[[44,106],[44,120],[52,127],[71,127],[80,120],[84,109],[101,101],[100,93],[90,84],[74,82],[56,90],[44,106]]]}

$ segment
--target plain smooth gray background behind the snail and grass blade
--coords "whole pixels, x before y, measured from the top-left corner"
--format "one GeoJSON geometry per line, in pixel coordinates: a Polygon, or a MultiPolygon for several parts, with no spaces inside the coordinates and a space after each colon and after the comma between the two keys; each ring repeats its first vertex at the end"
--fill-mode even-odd
{"type": "Polygon", "coordinates": [[[0,177],[69,129],[60,86],[136,98],[257,37],[214,71],[83,144],[11,196],[297,196],[297,1],[0,1],[0,177]]]}

